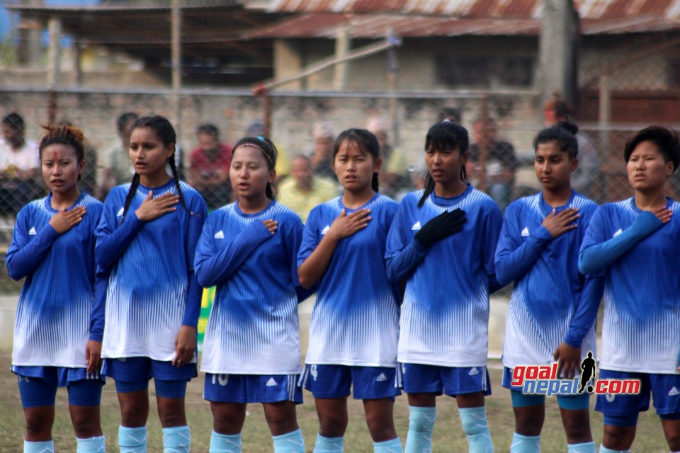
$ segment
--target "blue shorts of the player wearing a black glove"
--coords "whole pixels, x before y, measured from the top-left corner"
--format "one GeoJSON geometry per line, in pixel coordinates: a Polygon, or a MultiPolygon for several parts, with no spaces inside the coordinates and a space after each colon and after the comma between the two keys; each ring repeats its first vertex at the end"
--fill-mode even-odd
{"type": "Polygon", "coordinates": [[[491,394],[487,367],[442,367],[399,363],[397,383],[407,394],[457,396],[483,391],[491,394]]]}

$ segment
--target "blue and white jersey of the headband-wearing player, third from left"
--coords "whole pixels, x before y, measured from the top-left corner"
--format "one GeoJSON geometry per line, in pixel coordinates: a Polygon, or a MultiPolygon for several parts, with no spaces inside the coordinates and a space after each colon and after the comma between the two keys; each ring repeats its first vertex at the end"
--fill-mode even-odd
{"type": "Polygon", "coordinates": [[[300,217],[276,201],[256,214],[244,214],[237,203],[210,214],[196,251],[198,281],[217,286],[201,371],[302,371],[295,268],[301,240],[300,217]],[[268,219],[278,222],[274,234],[262,223],[268,219]]]}

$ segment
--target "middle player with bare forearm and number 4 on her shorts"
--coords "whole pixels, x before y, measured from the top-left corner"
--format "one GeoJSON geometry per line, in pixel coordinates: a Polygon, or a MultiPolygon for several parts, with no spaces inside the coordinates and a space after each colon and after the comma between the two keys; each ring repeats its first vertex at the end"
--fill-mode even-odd
{"type": "Polygon", "coordinates": [[[297,258],[300,284],[319,284],[302,379],[319,415],[314,452],[343,451],[351,387],[363,400],[373,450],[401,452],[392,418],[398,290],[383,258],[397,203],[378,193],[382,161],[373,134],[342,132],[331,159],[344,194],[310,212],[297,258]]]}

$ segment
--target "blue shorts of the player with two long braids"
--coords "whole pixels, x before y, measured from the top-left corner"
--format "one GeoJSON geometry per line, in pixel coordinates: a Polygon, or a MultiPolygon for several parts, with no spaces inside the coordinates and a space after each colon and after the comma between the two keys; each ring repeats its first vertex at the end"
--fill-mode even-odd
{"type": "Polygon", "coordinates": [[[102,373],[115,380],[118,393],[145,390],[149,379],[156,382],[156,394],[164,398],[183,398],[186,383],[198,376],[196,363],[177,368],[172,362],[162,362],[149,357],[104,359],[102,373]]]}

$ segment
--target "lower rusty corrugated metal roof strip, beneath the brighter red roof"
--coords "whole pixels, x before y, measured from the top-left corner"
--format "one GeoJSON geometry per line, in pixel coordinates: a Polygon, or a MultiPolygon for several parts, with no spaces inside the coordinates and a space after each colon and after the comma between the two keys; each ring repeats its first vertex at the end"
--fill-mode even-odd
{"type": "MultiPolygon", "coordinates": [[[[403,37],[461,35],[538,35],[540,21],[533,18],[455,18],[402,14],[310,13],[284,19],[244,35],[243,38],[336,38],[339,28],[353,38],[384,38],[387,33],[403,37]]],[[[586,19],[584,35],[616,35],[649,31],[680,30],[680,21],[654,16],[617,19],[586,19]]]]}

